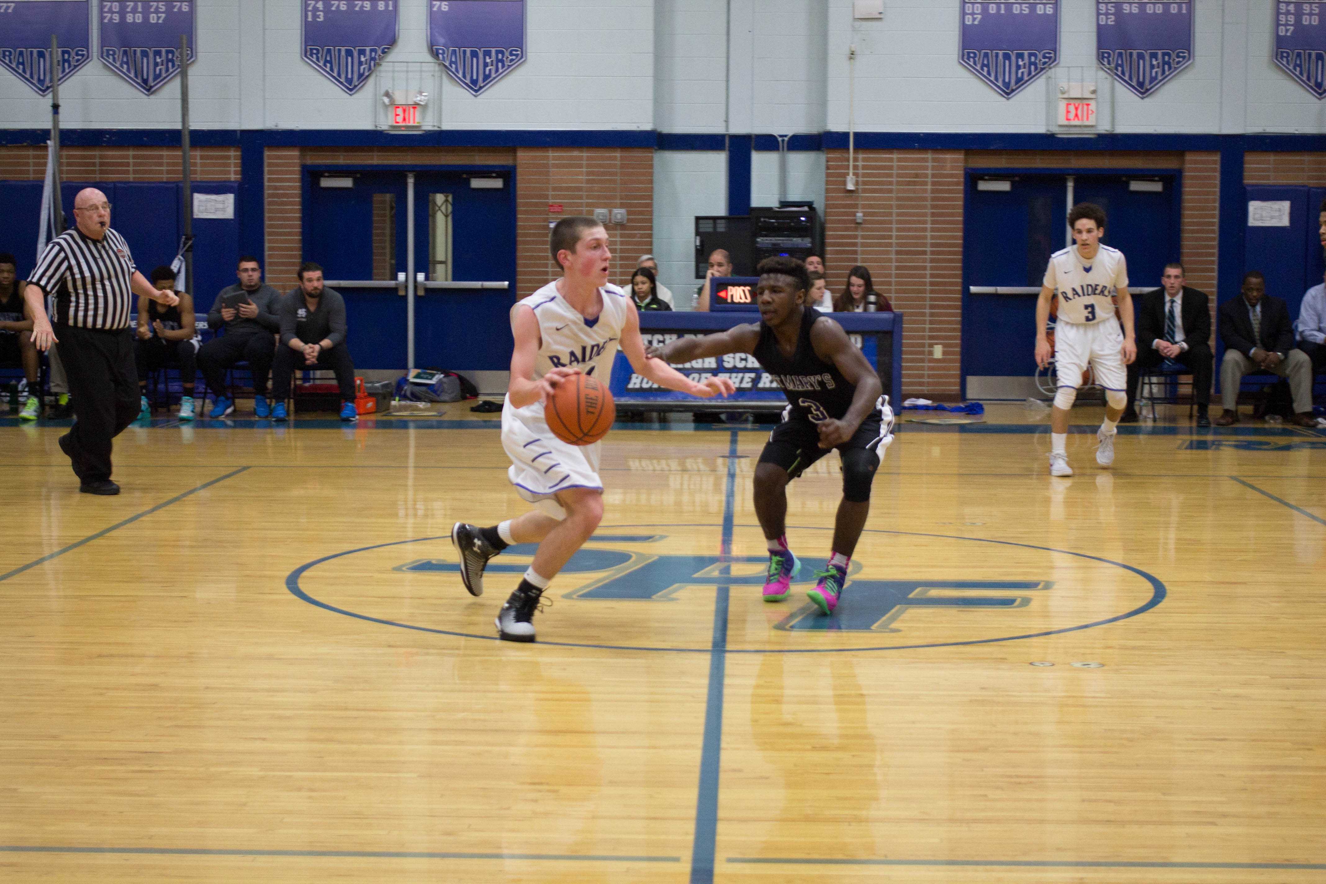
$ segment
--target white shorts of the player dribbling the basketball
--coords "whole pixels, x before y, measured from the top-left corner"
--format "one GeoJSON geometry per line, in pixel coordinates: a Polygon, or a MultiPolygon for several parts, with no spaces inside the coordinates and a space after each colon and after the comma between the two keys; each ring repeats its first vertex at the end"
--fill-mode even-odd
{"type": "Polygon", "coordinates": [[[603,490],[598,463],[603,443],[569,445],[553,435],[540,404],[501,410],[501,447],[511,457],[507,477],[516,493],[556,518],[566,516],[554,496],[569,488],[603,490]]]}

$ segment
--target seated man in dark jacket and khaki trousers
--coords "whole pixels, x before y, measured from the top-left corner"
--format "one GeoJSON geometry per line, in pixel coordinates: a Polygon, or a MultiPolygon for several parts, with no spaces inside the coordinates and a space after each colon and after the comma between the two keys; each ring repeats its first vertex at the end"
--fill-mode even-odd
{"type": "Polygon", "coordinates": [[[1294,396],[1293,423],[1315,427],[1313,420],[1313,360],[1294,350],[1294,326],[1282,298],[1266,294],[1266,280],[1257,270],[1244,274],[1242,296],[1220,305],[1220,338],[1225,359],[1220,364],[1220,396],[1225,412],[1220,427],[1238,423],[1238,384],[1253,371],[1289,378],[1294,396]]]}

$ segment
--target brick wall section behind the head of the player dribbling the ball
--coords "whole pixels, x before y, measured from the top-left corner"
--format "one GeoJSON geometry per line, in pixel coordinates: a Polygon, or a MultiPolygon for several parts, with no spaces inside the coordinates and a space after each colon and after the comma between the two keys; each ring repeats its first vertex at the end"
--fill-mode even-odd
{"type": "Polygon", "coordinates": [[[516,151],[517,297],[532,294],[561,269],[548,253],[548,223],[595,208],[625,208],[609,224],[611,281],[626,286],[635,260],[654,250],[654,151],[648,147],[521,147],[516,151]],[[549,204],[561,204],[549,213],[549,204]]]}

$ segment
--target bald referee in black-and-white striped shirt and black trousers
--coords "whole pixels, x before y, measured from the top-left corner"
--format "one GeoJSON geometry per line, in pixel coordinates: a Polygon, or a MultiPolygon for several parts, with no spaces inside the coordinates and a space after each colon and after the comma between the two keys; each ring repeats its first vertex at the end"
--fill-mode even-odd
{"type": "Polygon", "coordinates": [[[138,370],[130,313],[134,294],[167,306],[174,292],[156,290],[134,268],[125,239],[110,229],[110,203],[94,187],[74,197],[74,228],[46,244],[28,277],[24,300],[32,311],[32,342],[38,350],[60,343],[69,375],[74,425],[60,437],[88,494],[118,494],[110,481],[111,439],[138,416],[138,370]],[[45,294],[56,297],[56,330],[46,317],[45,294]]]}

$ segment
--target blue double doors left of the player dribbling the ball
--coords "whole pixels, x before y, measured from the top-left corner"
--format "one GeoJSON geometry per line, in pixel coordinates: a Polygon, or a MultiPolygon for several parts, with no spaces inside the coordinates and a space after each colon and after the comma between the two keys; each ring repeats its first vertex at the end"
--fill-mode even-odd
{"type": "MultiPolygon", "coordinates": [[[[394,284],[407,272],[410,170],[305,167],[304,256],[328,280],[394,284]]],[[[415,272],[431,284],[339,286],[357,368],[501,371],[511,366],[516,293],[516,195],[508,168],[415,170],[415,272]],[[477,288],[508,282],[509,288],[477,288]],[[467,285],[473,284],[473,285],[467,285]]]]}

